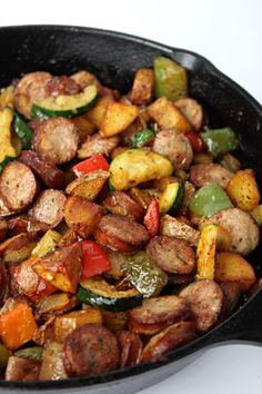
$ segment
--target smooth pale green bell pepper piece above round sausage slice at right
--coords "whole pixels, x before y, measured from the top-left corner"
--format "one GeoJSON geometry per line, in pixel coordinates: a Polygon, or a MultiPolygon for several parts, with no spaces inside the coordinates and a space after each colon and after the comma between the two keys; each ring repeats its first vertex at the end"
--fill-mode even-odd
{"type": "Polygon", "coordinates": [[[212,183],[195,191],[189,207],[192,214],[210,217],[220,210],[232,207],[232,203],[222,187],[212,183]]]}

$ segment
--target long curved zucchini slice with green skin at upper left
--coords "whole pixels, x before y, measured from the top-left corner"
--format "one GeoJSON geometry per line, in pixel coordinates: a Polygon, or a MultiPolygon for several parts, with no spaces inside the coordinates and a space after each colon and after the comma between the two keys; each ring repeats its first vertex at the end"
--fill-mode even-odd
{"type": "Polygon", "coordinates": [[[31,114],[34,118],[44,119],[54,116],[71,118],[90,110],[95,102],[97,96],[98,89],[94,85],[91,85],[81,93],[74,96],[61,95],[34,102],[31,114]]]}

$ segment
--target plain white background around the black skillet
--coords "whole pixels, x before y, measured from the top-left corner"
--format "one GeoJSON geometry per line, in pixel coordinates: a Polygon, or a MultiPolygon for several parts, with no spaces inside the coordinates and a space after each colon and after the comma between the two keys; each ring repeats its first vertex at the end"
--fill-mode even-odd
{"type": "MultiPolygon", "coordinates": [[[[0,11],[0,26],[89,26],[193,50],[260,102],[261,19],[261,0],[2,0],[0,11]]],[[[262,347],[230,345],[210,349],[179,374],[141,392],[159,393],[261,394],[262,347]]]]}

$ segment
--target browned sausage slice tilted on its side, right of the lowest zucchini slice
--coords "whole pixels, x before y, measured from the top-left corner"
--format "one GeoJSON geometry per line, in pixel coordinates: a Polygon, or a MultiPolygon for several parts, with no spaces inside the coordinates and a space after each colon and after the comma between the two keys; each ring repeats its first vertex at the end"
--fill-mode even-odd
{"type": "Polygon", "coordinates": [[[155,324],[167,321],[179,322],[189,317],[187,302],[177,295],[167,295],[144,299],[141,306],[130,311],[132,319],[143,324],[155,324]]]}

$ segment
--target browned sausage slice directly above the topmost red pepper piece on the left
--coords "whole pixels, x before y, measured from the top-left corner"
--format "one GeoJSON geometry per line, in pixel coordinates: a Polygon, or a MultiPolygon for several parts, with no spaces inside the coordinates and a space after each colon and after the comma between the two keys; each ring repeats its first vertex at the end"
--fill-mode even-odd
{"type": "Polygon", "coordinates": [[[87,159],[98,154],[109,156],[118,144],[119,137],[103,138],[97,132],[91,137],[88,136],[85,142],[81,145],[81,148],[78,150],[78,158],[87,159]]]}

